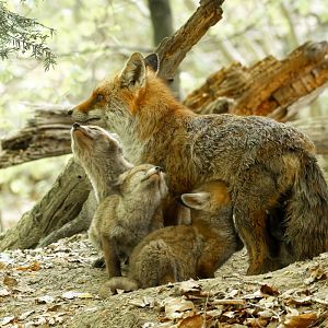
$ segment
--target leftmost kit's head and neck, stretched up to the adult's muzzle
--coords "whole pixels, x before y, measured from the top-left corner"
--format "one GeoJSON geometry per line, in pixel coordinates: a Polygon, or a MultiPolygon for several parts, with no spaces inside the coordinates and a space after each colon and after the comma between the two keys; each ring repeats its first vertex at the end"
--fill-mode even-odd
{"type": "Polygon", "coordinates": [[[84,168],[101,202],[113,192],[118,176],[133,165],[124,157],[118,136],[97,126],[73,124],[71,141],[74,160],[84,168]]]}

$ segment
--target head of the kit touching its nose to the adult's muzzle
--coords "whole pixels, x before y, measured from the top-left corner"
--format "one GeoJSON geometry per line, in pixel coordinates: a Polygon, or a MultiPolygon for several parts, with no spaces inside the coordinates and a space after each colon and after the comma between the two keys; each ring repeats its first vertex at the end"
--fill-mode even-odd
{"type": "Polygon", "coordinates": [[[122,156],[118,136],[97,126],[73,124],[71,147],[74,159],[82,166],[90,161],[105,161],[109,156],[122,156]]]}

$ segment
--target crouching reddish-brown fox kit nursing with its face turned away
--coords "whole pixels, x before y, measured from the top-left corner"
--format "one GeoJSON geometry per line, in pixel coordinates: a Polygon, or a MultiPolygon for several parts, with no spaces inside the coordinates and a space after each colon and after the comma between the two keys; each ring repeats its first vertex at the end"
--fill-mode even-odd
{"type": "Polygon", "coordinates": [[[211,181],[181,201],[191,211],[191,225],[166,226],[149,234],[134,248],[128,277],[110,279],[102,290],[126,291],[190,278],[211,278],[242,248],[233,222],[227,188],[211,181]]]}

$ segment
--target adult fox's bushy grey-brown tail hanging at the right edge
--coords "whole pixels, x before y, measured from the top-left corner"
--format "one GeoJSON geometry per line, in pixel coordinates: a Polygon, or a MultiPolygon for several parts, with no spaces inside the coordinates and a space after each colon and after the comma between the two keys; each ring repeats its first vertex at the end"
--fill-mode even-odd
{"type": "Polygon", "coordinates": [[[286,203],[285,241],[295,260],[328,250],[328,187],[314,156],[304,155],[286,203]]]}

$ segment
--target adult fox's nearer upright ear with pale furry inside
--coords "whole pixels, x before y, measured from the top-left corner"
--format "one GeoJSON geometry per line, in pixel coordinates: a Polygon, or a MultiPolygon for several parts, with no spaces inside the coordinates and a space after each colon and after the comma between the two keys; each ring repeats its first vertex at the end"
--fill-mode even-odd
{"type": "Polygon", "coordinates": [[[127,86],[130,91],[137,91],[145,84],[145,65],[141,54],[134,52],[127,61],[120,73],[122,86],[127,86]]]}

